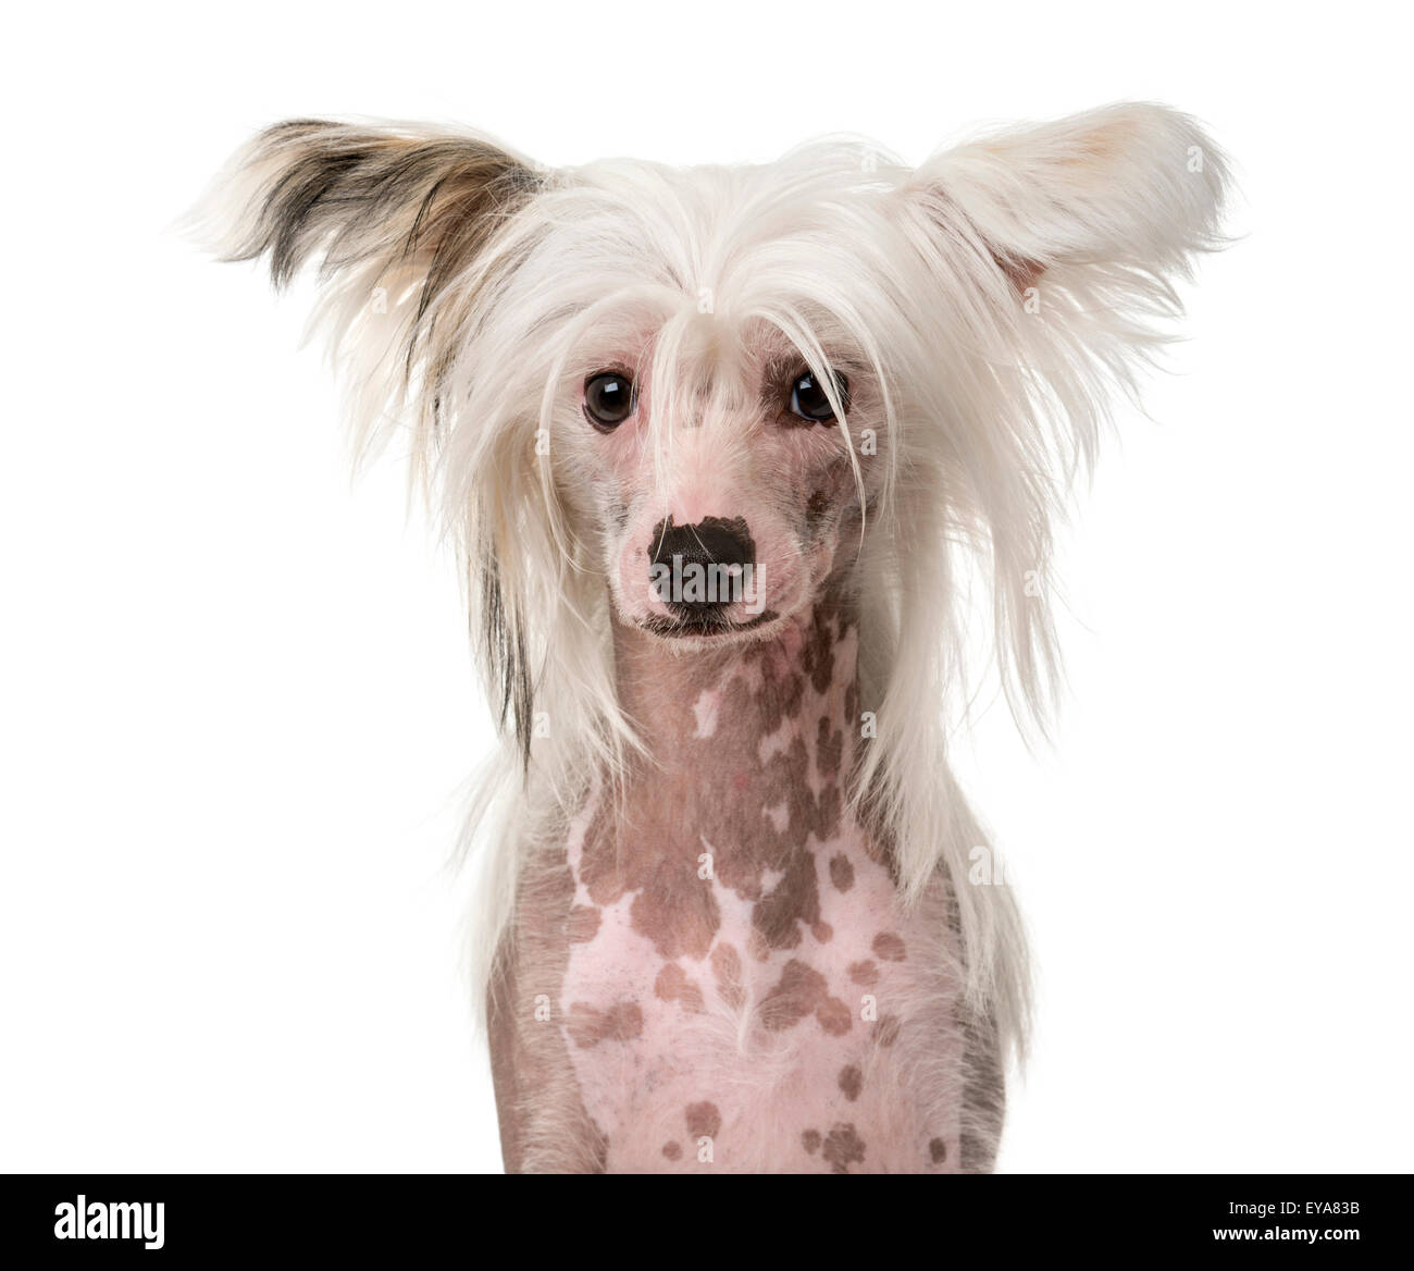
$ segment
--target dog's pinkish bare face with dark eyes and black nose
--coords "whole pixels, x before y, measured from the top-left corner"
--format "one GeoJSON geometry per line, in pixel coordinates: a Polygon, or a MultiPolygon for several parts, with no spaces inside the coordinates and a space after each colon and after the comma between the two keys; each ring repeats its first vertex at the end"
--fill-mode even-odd
{"type": "MultiPolygon", "coordinates": [[[[584,374],[566,501],[618,621],[684,647],[769,638],[861,528],[868,415],[844,350],[816,371],[764,321],[667,316],[584,374]]],[[[826,361],[826,360],[822,360],[826,361]]],[[[865,487],[867,490],[867,487],[865,487]]],[[[848,545],[847,545],[848,546],[848,545]]]]}

